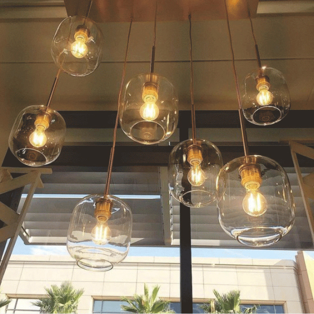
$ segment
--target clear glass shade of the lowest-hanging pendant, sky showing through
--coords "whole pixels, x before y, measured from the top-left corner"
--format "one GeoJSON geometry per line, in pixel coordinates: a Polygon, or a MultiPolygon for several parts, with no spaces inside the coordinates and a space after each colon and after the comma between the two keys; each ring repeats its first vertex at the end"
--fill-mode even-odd
{"type": "Polygon", "coordinates": [[[67,249],[78,266],[88,270],[105,271],[123,261],[128,255],[131,231],[131,209],[121,199],[108,195],[112,202],[111,217],[106,222],[105,240],[95,237],[96,202],[104,195],[88,195],[75,207],[68,231],[67,249]]]}

